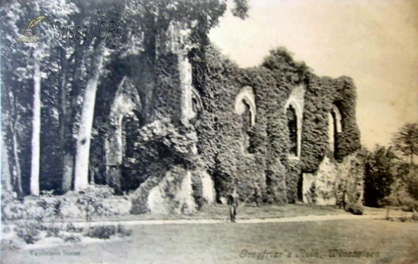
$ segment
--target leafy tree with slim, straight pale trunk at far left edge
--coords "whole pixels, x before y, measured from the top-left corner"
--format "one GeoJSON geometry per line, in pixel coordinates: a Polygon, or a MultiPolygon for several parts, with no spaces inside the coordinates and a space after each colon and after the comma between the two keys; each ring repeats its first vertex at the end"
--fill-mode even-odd
{"type": "MultiPolygon", "coordinates": [[[[6,91],[9,91],[6,93],[7,97],[10,98],[10,104],[7,104],[10,107],[8,111],[13,113],[13,111],[19,111],[22,107],[27,114],[31,114],[30,125],[22,120],[17,122],[13,117],[14,115],[10,116],[12,117],[8,119],[8,122],[11,123],[11,125],[8,125],[10,127],[10,137],[15,142],[10,145],[13,145],[12,149],[16,151],[13,155],[15,164],[25,164],[26,160],[30,161],[30,163],[27,162],[30,172],[26,173],[26,168],[24,168],[24,174],[30,175],[28,191],[34,195],[38,195],[40,190],[41,90],[48,90],[47,93],[52,93],[56,87],[59,87],[53,81],[56,72],[54,51],[57,47],[60,47],[61,42],[49,37],[46,38],[46,36],[50,33],[49,26],[53,24],[53,21],[65,21],[68,14],[75,10],[73,7],[73,5],[65,4],[59,0],[10,1],[5,8],[6,19],[2,20],[1,23],[2,31],[6,31],[2,34],[2,37],[5,36],[2,38],[2,44],[4,44],[2,53],[4,52],[5,55],[2,59],[7,61],[7,67],[3,68],[6,75],[3,84],[8,86],[6,91]],[[40,15],[45,15],[46,19],[38,22],[33,29],[38,36],[38,42],[16,43],[17,36],[22,35],[22,31],[26,29],[28,23],[40,15]],[[49,84],[43,84],[46,79],[49,79],[49,84]],[[30,144],[19,142],[20,140],[27,140],[16,134],[18,130],[14,127],[19,123],[29,128],[27,129],[28,132],[24,134],[31,133],[30,144]],[[21,152],[19,145],[28,146],[30,159],[19,160],[19,153],[21,152]]],[[[2,95],[5,95],[5,93],[2,93],[2,95]]],[[[54,108],[51,105],[48,105],[48,107],[54,108]]],[[[16,118],[18,116],[19,114],[15,115],[16,118]]],[[[16,165],[15,169],[20,171],[19,167],[16,165]]],[[[20,182],[22,184],[22,180],[20,182]]]]}

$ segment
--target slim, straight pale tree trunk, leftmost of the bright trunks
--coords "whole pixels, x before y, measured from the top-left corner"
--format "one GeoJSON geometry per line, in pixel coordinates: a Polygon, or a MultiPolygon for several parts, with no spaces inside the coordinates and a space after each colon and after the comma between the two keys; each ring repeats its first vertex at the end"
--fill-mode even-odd
{"type": "Polygon", "coordinates": [[[39,195],[39,160],[40,160],[40,65],[35,61],[33,73],[33,118],[32,118],[32,155],[31,155],[31,194],[39,195]]]}

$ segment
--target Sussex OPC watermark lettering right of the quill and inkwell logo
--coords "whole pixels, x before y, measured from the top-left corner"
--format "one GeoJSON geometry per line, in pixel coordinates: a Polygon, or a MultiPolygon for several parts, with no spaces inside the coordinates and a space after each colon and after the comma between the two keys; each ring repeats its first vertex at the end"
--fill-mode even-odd
{"type": "Polygon", "coordinates": [[[94,38],[100,38],[100,40],[104,40],[104,38],[109,38],[110,34],[113,33],[117,35],[119,40],[123,40],[125,38],[125,33],[121,32],[121,26],[126,26],[123,20],[116,21],[111,20],[109,24],[106,21],[100,22],[98,27],[96,26],[61,26],[61,22],[55,22],[55,29],[58,31],[54,33],[54,38],[56,40],[93,40],[94,38]],[[123,33],[123,34],[122,34],[123,33]]]}

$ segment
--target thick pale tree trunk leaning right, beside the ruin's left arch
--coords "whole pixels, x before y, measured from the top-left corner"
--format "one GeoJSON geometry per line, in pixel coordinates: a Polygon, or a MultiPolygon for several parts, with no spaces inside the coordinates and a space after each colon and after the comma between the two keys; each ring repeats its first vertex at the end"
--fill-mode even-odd
{"type": "MultiPolygon", "coordinates": [[[[100,44],[102,45],[102,44],[100,44]]],[[[75,157],[74,190],[77,192],[88,186],[88,161],[90,160],[91,129],[93,127],[95,95],[98,88],[98,79],[103,68],[103,47],[98,47],[93,58],[93,72],[86,84],[82,106],[82,117],[77,137],[77,154],[75,157]]]]}

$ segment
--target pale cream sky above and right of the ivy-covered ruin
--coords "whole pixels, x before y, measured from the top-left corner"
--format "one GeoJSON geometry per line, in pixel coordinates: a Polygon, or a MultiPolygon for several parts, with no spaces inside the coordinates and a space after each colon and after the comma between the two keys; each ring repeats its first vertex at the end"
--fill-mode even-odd
{"type": "Polygon", "coordinates": [[[249,0],[249,18],[226,15],[210,38],[242,67],[288,48],[316,75],[352,77],[362,143],[387,145],[418,122],[418,1],[249,0]]]}

